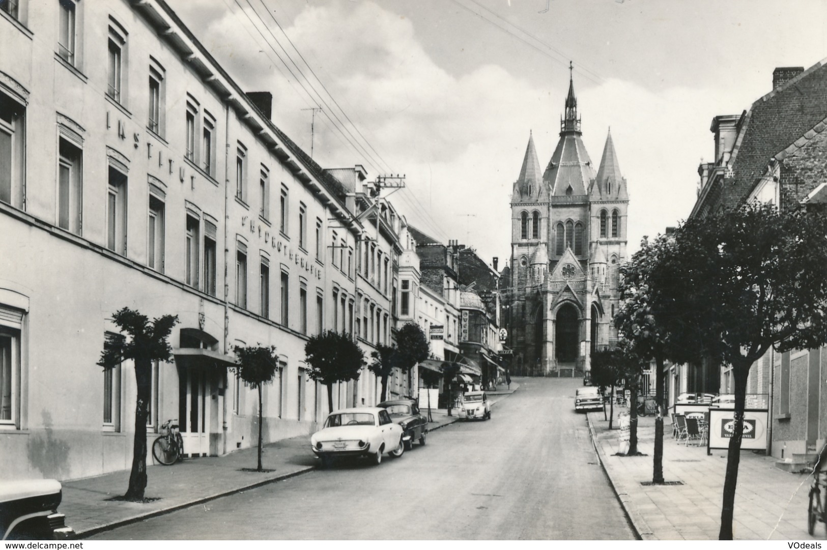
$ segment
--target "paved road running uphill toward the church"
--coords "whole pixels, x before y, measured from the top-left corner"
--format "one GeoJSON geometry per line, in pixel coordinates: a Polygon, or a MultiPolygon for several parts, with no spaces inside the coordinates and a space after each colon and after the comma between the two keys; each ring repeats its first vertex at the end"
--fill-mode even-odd
{"type": "Polygon", "coordinates": [[[519,383],[490,421],[380,466],[339,464],[93,539],[633,539],[572,409],[581,380],[519,383]]]}

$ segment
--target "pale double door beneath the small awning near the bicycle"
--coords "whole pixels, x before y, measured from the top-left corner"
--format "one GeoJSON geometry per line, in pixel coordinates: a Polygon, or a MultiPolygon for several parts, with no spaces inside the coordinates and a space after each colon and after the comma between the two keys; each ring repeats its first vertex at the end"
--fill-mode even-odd
{"type": "Polygon", "coordinates": [[[209,454],[210,380],[205,369],[196,366],[178,369],[178,421],[184,454],[206,457],[209,454]]]}

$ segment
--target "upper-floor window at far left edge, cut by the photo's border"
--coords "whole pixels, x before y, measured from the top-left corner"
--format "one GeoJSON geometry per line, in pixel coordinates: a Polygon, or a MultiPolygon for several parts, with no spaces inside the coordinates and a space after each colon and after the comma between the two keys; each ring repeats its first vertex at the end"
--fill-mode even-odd
{"type": "Polygon", "coordinates": [[[0,201],[23,208],[26,108],[0,91],[0,201]]]}

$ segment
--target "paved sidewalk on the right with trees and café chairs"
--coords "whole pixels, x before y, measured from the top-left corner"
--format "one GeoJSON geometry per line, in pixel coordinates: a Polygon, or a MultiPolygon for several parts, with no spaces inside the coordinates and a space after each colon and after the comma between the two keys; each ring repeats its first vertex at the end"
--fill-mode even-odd
{"type": "MultiPolygon", "coordinates": [[[[638,418],[638,451],[646,453],[645,457],[613,456],[619,448],[616,419],[611,432],[602,412],[588,413],[588,422],[600,462],[643,540],[717,540],[725,449],[713,449],[707,456],[706,447],[676,442],[667,418],[663,423],[663,477],[683,485],[644,486],[642,481],[652,481],[655,418],[638,418]]],[[[772,457],[741,452],[734,538],[815,540],[807,534],[806,522],[812,478],[786,473],[774,465],[772,457]]]]}

